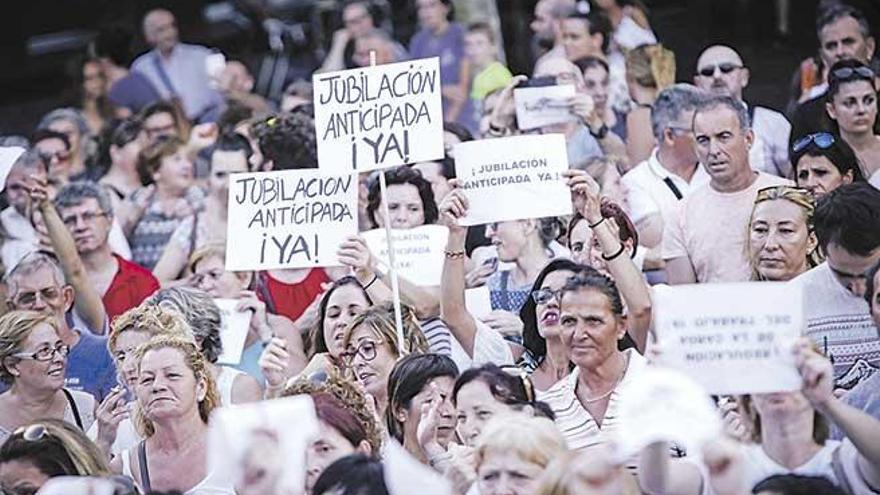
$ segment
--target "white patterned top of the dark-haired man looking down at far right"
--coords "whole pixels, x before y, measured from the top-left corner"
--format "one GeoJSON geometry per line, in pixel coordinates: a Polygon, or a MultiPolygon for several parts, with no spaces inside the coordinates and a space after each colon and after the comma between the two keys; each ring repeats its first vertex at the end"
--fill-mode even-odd
{"type": "Polygon", "coordinates": [[[840,285],[827,262],[791,283],[803,284],[805,335],[832,358],[838,387],[850,389],[880,369],[880,336],[868,303],[840,285]]]}

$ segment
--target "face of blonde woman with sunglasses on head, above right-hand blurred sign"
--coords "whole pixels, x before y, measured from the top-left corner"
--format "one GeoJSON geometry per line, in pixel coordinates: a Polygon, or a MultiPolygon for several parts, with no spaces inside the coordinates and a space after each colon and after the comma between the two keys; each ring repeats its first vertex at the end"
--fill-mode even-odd
{"type": "Polygon", "coordinates": [[[749,254],[765,280],[787,281],[807,271],[812,242],[800,206],[785,199],[755,206],[749,226],[749,254]]]}

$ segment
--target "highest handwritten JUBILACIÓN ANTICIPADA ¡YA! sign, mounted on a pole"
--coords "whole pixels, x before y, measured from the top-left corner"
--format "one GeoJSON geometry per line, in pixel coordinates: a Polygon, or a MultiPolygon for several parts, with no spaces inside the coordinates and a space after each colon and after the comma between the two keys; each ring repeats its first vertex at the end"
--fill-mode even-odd
{"type": "Polygon", "coordinates": [[[312,85],[321,170],[443,158],[439,58],[315,74],[312,85]]]}

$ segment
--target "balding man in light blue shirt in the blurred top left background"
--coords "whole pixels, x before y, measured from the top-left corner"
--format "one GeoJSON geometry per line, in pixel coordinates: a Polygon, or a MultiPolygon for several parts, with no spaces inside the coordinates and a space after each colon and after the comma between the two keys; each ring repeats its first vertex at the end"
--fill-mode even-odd
{"type": "Polygon", "coordinates": [[[147,12],[143,29],[153,49],[138,57],[131,70],[146,76],[163,99],[179,99],[190,120],[216,121],[224,102],[211,87],[205,64],[212,51],[181,43],[174,14],[165,9],[147,12]]]}

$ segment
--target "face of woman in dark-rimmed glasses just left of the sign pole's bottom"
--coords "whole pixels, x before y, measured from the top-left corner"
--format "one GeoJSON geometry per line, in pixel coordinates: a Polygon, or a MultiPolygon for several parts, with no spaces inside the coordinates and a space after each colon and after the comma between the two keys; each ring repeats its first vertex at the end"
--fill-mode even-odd
{"type": "Polygon", "coordinates": [[[388,376],[397,362],[397,350],[391,343],[379,337],[369,325],[359,325],[352,330],[346,353],[351,359],[351,369],[357,381],[373,397],[385,397],[388,376]]]}

